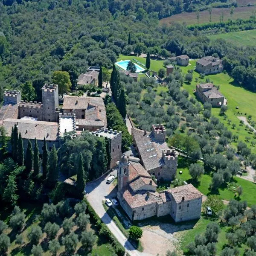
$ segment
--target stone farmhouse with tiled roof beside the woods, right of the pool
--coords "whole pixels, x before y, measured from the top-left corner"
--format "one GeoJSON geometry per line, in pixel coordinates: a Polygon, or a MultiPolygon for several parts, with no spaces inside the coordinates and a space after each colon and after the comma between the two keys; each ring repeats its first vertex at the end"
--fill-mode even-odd
{"type": "Polygon", "coordinates": [[[216,74],[223,71],[223,65],[220,58],[207,56],[196,62],[195,70],[202,74],[216,74]]]}

